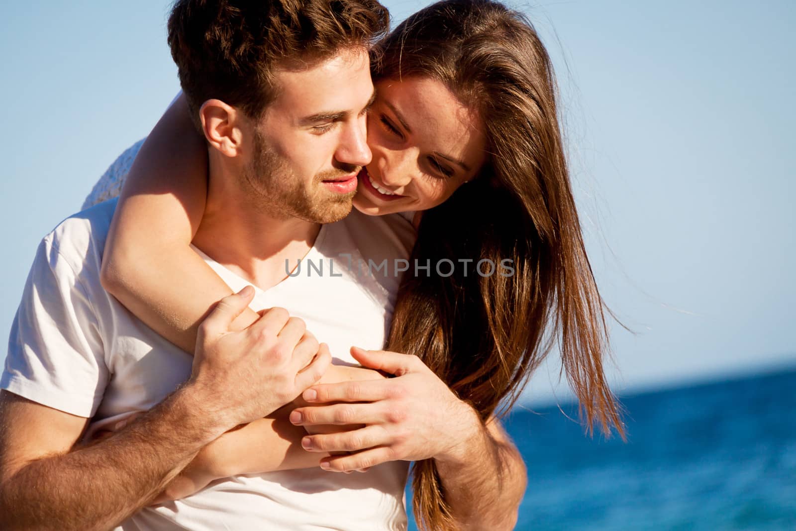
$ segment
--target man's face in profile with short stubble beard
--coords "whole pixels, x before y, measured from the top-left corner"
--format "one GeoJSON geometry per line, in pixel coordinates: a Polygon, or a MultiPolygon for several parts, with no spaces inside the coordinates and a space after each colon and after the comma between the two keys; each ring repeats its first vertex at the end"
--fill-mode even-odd
{"type": "Polygon", "coordinates": [[[252,122],[244,186],[261,207],[313,223],[351,211],[368,164],[365,120],[373,103],[367,49],[343,49],[310,68],[275,72],[278,95],[252,122]]]}

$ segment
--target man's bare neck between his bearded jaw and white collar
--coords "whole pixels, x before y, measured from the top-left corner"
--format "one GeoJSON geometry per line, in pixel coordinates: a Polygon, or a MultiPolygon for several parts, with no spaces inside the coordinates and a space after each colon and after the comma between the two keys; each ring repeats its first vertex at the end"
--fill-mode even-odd
{"type": "MultiPolygon", "coordinates": [[[[211,150],[213,151],[213,150],[211,150]]],[[[193,244],[257,287],[287,277],[314,245],[321,225],[258,207],[240,186],[236,168],[210,154],[207,204],[193,244]]]]}

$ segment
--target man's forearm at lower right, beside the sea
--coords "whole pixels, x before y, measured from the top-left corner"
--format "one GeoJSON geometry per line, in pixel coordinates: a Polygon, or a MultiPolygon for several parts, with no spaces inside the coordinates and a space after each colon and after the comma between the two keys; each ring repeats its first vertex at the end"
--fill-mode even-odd
{"type": "Polygon", "coordinates": [[[525,463],[497,421],[486,428],[474,410],[471,418],[473,435],[462,451],[435,458],[445,501],[461,529],[514,529],[525,494],[525,463]]]}

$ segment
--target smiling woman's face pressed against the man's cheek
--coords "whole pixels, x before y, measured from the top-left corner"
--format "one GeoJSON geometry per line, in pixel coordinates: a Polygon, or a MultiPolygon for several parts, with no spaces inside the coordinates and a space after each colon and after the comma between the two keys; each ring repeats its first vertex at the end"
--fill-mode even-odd
{"type": "Polygon", "coordinates": [[[381,80],[368,113],[373,160],[353,205],[372,216],[425,210],[478,174],[486,139],[478,113],[428,77],[381,80]]]}

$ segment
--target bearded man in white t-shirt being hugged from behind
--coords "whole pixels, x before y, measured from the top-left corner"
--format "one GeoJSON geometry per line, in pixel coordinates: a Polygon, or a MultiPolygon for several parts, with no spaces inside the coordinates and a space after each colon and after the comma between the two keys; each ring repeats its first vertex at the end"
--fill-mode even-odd
{"type": "MultiPolygon", "coordinates": [[[[224,213],[203,220],[195,241],[206,255],[234,264],[235,272],[208,258],[209,263],[232,287],[248,283],[270,287],[278,282],[275,275],[285,259],[313,253],[338,256],[345,251],[364,257],[369,252],[405,256],[407,241],[396,236],[401,228],[389,219],[369,221],[368,230],[359,231],[350,224],[318,225],[349,211],[350,182],[356,183],[357,171],[369,162],[363,117],[373,86],[366,42],[384,29],[383,8],[372,2],[348,2],[357,9],[347,16],[360,14],[365,21],[358,25],[318,21],[318,27],[339,32],[319,40],[326,48],[301,43],[292,57],[286,53],[276,66],[264,64],[271,71],[258,72],[263,76],[230,79],[230,68],[213,68],[213,55],[223,55],[218,48],[208,51],[192,42],[218,34],[202,27],[208,18],[215,29],[232,33],[226,44],[234,55],[240,51],[235,46],[246,42],[236,38],[238,31],[245,37],[247,31],[259,31],[265,21],[306,24],[304,17],[311,22],[307,12],[320,18],[341,15],[330,13],[325,2],[271,2],[264,7],[218,3],[224,9],[212,10],[205,2],[178,2],[170,19],[170,41],[189,107],[210,146],[208,203],[213,209],[209,211],[224,213]],[[263,16],[263,10],[282,8],[281,18],[263,16]],[[368,26],[368,31],[362,30],[368,26]],[[299,97],[302,91],[314,97],[299,97]],[[310,111],[307,106],[315,108],[310,111]],[[291,135],[295,131],[290,120],[280,121],[297,109],[306,111],[301,127],[322,125],[332,115],[338,133],[332,141],[298,142],[301,136],[291,135]],[[252,260],[256,256],[268,260],[252,260]]],[[[281,26],[268,29],[277,35],[282,31],[314,36],[306,27],[304,33],[281,26]]],[[[3,529],[107,529],[119,522],[123,529],[404,526],[403,461],[385,463],[366,474],[315,469],[240,477],[203,490],[177,510],[142,510],[201,447],[238,424],[267,416],[318,381],[330,356],[328,349],[318,349],[302,322],[288,318],[283,310],[264,312],[246,330],[230,333],[236,315],[253,297],[263,295],[248,287],[225,299],[205,321],[191,360],[101,289],[100,264],[112,211],[112,204],[103,204],[64,221],[45,237],[33,264],[2,380],[2,387],[14,393],[3,392],[3,529]],[[111,439],[73,448],[88,418],[113,419],[146,410],[111,439]]],[[[288,306],[291,314],[302,315],[336,353],[352,343],[383,342],[384,307],[395,285],[363,289],[353,286],[348,276],[334,287],[325,283],[321,289],[330,293],[319,298],[312,297],[318,294],[317,286],[292,280],[267,292],[267,306],[288,306]],[[364,322],[346,326],[349,319],[344,319],[324,326],[319,316],[334,314],[341,297],[367,316],[364,322]]],[[[266,306],[263,300],[258,305],[266,306]]],[[[398,365],[405,362],[393,361],[384,368],[399,372],[398,365]]],[[[421,372],[417,367],[403,372],[409,369],[421,372]]],[[[472,440],[480,445],[476,451],[486,444],[478,436],[472,440]]],[[[377,463],[364,466],[370,464],[377,463]]],[[[448,484],[469,481],[473,469],[465,468],[469,476],[446,474],[448,484]]],[[[454,490],[452,498],[463,499],[454,490]]],[[[461,502],[451,505],[456,509],[461,502]]]]}

